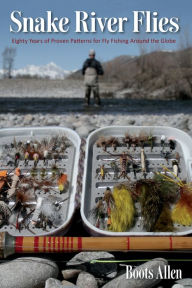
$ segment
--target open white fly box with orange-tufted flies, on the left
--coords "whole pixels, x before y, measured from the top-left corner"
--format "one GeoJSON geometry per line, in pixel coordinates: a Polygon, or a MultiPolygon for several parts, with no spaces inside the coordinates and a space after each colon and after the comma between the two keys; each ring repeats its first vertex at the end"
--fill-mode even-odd
{"type": "Polygon", "coordinates": [[[0,130],[0,231],[65,233],[75,211],[80,138],[62,127],[0,130]]]}

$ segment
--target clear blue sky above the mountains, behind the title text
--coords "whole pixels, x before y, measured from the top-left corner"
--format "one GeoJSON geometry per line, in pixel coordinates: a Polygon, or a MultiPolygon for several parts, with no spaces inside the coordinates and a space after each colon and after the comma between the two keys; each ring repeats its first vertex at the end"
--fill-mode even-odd
{"type": "MultiPolygon", "coordinates": [[[[27,65],[46,65],[54,62],[66,70],[79,69],[83,61],[87,58],[89,49],[95,49],[97,59],[108,61],[119,55],[139,55],[141,48],[145,47],[146,52],[153,50],[176,50],[185,46],[186,39],[192,39],[192,3],[191,0],[6,0],[1,4],[0,9],[0,55],[5,47],[16,48],[16,58],[14,68],[19,69],[27,65]],[[13,25],[10,14],[12,11],[22,11],[23,17],[44,17],[46,11],[52,11],[53,17],[68,17],[70,19],[69,31],[67,33],[11,33],[10,25],[13,25]],[[85,11],[89,15],[92,11],[96,17],[127,17],[124,33],[109,33],[107,30],[101,32],[97,26],[96,33],[76,33],[75,32],[75,11],[85,11]],[[177,33],[146,33],[145,21],[140,33],[133,33],[133,11],[158,12],[158,19],[162,17],[178,17],[180,30],[177,33]],[[93,39],[100,40],[100,43],[93,43],[93,39]],[[102,39],[173,39],[175,44],[106,44],[102,39]],[[27,40],[27,44],[15,44],[12,41],[27,40]],[[43,44],[30,44],[29,40],[42,40],[43,44]],[[89,39],[89,44],[45,44],[46,39],[89,39]]],[[[90,16],[89,16],[90,17],[90,16]]],[[[90,21],[90,18],[89,20],[90,21]]],[[[90,22],[89,22],[90,23],[90,22]]],[[[15,26],[16,27],[16,26],[15,26]]],[[[2,67],[2,57],[0,57],[0,69],[2,67]]]]}

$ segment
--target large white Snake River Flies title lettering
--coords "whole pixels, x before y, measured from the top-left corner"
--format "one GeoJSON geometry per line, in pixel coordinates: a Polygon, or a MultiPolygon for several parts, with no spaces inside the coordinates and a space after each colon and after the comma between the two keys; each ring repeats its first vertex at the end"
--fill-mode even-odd
{"type": "MultiPolygon", "coordinates": [[[[98,17],[92,11],[74,11],[76,33],[124,33],[131,25],[132,32],[139,33],[176,33],[180,30],[178,17],[160,17],[158,12],[132,11],[133,21],[128,17],[98,17]]],[[[10,32],[12,33],[67,33],[70,31],[71,19],[55,17],[52,11],[46,11],[45,17],[25,17],[22,11],[14,10],[10,14],[10,32]]]]}

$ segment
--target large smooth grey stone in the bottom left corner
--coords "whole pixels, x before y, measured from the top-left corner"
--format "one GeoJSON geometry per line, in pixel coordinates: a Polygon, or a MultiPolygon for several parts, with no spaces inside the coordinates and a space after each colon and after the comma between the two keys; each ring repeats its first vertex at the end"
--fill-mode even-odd
{"type": "Polygon", "coordinates": [[[22,257],[0,265],[1,288],[44,288],[48,278],[57,278],[58,266],[47,259],[22,257]]]}

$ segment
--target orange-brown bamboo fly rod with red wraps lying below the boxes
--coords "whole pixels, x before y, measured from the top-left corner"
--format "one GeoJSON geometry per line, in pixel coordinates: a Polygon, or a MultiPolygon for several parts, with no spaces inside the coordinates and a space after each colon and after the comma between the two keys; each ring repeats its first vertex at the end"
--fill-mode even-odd
{"type": "Polygon", "coordinates": [[[0,258],[14,253],[192,251],[192,237],[13,237],[0,233],[0,258]]]}

